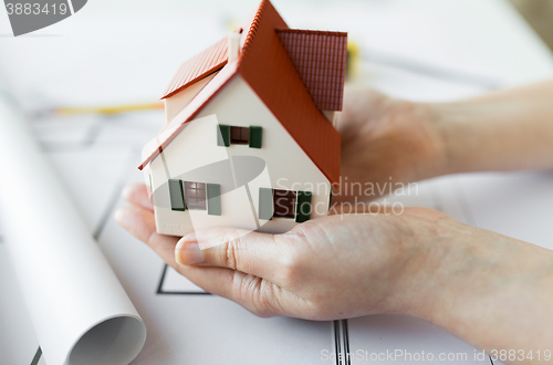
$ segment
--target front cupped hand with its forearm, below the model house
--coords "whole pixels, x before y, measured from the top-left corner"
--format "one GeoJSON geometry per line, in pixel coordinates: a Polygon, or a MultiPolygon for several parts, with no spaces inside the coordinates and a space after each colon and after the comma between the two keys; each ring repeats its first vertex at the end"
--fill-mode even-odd
{"type": "Polygon", "coordinates": [[[283,234],[219,228],[179,240],[156,233],[146,186],[124,197],[124,228],[198,286],[259,316],[407,314],[490,354],[545,351],[553,341],[553,253],[438,211],[336,215],[283,234]]]}

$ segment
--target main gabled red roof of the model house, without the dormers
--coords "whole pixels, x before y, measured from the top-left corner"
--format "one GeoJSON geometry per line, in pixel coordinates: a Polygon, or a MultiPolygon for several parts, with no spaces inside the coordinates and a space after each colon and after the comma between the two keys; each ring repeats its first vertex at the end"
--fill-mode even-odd
{"type": "Polygon", "coordinates": [[[240,74],[326,178],[337,182],[340,134],[316,107],[279,39],[276,30],[282,33],[283,29],[288,29],[286,23],[269,0],[262,0],[237,62],[227,64],[161,131],[158,142],[145,150],[138,168],[143,169],[166,148],[185,124],[192,121],[234,74],[240,74]]]}

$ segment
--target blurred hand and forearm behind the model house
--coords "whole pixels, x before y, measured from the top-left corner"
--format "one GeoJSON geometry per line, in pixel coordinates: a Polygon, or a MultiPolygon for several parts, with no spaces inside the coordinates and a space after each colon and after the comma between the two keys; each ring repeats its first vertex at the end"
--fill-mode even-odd
{"type": "Polygon", "coordinates": [[[346,87],[337,123],[342,184],[333,201],[366,201],[389,194],[390,185],[446,174],[551,170],[552,97],[553,81],[438,104],[346,87]]]}

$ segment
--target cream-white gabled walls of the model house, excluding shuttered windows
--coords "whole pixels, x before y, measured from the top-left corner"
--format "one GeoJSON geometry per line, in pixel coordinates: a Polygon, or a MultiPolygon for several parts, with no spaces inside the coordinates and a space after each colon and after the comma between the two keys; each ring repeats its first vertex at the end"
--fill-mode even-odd
{"type": "Polygon", "coordinates": [[[312,191],[311,219],[326,216],[327,212],[328,180],[239,75],[213,97],[195,121],[187,123],[163,154],[150,163],[150,170],[159,233],[184,236],[194,228],[209,227],[237,227],[279,233],[298,225],[294,219],[285,218],[259,220],[260,187],[312,191]],[[261,148],[232,144],[229,147],[218,146],[217,124],[261,126],[261,148]],[[242,156],[259,157],[265,163],[265,168],[262,165],[252,166],[259,174],[248,181],[248,189],[234,185],[236,176],[234,179],[229,178],[229,174],[236,169],[233,165],[242,156]],[[230,164],[229,160],[234,163],[230,164]],[[211,165],[215,163],[217,165],[211,165]],[[218,167],[217,174],[210,171],[212,168],[201,171],[202,167],[210,165],[218,167]],[[167,189],[169,178],[220,184],[221,216],[208,216],[206,211],[197,210],[170,210],[167,189]],[[251,202],[248,195],[251,196],[251,202]]]}

